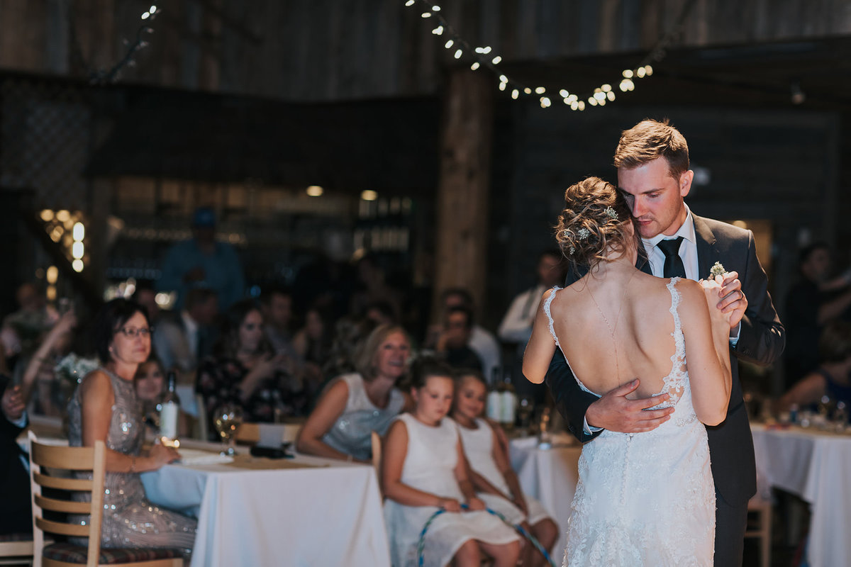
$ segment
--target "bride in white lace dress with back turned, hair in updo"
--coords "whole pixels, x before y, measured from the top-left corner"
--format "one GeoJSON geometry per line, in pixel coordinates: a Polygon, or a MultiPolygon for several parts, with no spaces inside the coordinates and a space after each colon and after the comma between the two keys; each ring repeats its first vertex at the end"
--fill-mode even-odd
{"type": "Polygon", "coordinates": [[[640,377],[632,396],[661,396],[653,409],[674,408],[653,431],[606,430],[582,448],[564,564],[711,567],[704,424],[724,420],[731,379],[720,284],[636,269],[630,209],[603,179],[572,185],[564,200],[556,238],[571,268],[588,273],[544,294],[523,374],[543,382],[558,347],[580,388],[599,396],[640,377]]]}

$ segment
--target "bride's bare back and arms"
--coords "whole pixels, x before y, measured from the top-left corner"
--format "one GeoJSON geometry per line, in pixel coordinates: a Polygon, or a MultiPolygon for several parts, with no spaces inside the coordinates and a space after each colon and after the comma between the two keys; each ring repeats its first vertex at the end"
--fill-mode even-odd
{"type": "MultiPolygon", "coordinates": [[[[608,268],[555,292],[550,313],[559,346],[574,375],[595,394],[606,394],[636,377],[640,384],[630,398],[660,394],[672,370],[687,370],[673,367],[677,346],[670,280],[622,264],[608,268]]],[[[726,415],[729,399],[724,323],[719,315],[710,316],[707,296],[696,281],[678,281],[676,292],[694,411],[700,421],[717,424],[726,415]]],[[[552,293],[541,300],[523,356],[523,373],[535,383],[543,381],[557,352],[545,314],[552,293]]],[[[676,403],[677,394],[671,392],[671,403],[676,403]]]]}

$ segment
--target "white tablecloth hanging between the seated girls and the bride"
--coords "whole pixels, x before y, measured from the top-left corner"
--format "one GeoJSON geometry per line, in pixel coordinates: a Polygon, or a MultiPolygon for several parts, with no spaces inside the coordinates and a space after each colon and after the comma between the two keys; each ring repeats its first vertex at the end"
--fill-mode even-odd
{"type": "Polygon", "coordinates": [[[514,439],[510,445],[511,467],[517,471],[520,486],[529,496],[540,500],[562,532],[551,550],[556,564],[561,564],[568,544],[570,503],[574,501],[579,480],[582,447],[578,442],[572,445],[571,439],[567,435],[557,436],[551,449],[539,449],[538,440],[532,437],[514,439]]]}

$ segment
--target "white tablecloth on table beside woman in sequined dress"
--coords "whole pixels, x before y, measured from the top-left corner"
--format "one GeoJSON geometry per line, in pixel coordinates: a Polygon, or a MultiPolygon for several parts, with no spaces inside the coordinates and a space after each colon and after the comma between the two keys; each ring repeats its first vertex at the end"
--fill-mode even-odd
{"type": "Polygon", "coordinates": [[[390,565],[374,469],[167,465],[141,475],[151,502],[197,516],[192,567],[390,565]]]}

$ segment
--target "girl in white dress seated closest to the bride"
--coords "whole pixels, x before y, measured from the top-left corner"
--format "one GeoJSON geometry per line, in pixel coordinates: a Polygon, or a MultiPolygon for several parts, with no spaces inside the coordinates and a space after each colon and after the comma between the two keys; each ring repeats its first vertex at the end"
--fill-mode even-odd
{"type": "MultiPolygon", "coordinates": [[[[481,417],[487,394],[484,377],[477,371],[463,371],[455,381],[452,417],[458,423],[465,456],[470,462],[476,496],[490,509],[502,513],[511,524],[522,524],[549,551],[558,537],[558,525],[540,502],[523,494],[498,432],[481,417]]],[[[531,567],[546,563],[544,556],[531,545],[523,546],[521,558],[523,565],[531,567]]]]}

